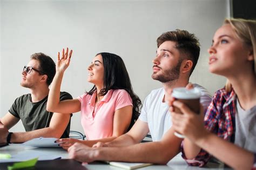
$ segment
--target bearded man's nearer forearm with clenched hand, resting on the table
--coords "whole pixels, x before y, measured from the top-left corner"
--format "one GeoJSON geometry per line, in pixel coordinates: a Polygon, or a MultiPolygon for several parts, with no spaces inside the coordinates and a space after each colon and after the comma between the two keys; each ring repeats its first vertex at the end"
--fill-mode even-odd
{"type": "MultiPolygon", "coordinates": [[[[166,164],[180,152],[182,139],[177,138],[173,132],[174,130],[171,128],[165,133],[161,141],[139,143],[129,146],[91,148],[83,144],[75,143],[68,149],[69,158],[76,159],[80,162],[106,160],[166,164]]],[[[126,139],[125,136],[122,138],[123,140],[126,139]]],[[[134,140],[130,139],[130,142],[132,141],[134,140]]],[[[123,144],[127,143],[123,142],[123,144]]]]}

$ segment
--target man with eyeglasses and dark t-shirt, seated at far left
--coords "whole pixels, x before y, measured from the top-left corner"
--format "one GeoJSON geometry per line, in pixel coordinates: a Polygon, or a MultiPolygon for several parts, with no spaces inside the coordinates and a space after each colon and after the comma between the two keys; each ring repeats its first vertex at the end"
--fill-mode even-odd
{"type": "MultiPolygon", "coordinates": [[[[22,143],[39,137],[68,138],[71,113],[46,111],[49,85],[55,76],[55,63],[44,53],[31,55],[24,66],[21,86],[31,93],[18,97],[8,113],[0,119],[0,142],[22,143]],[[9,129],[22,120],[26,132],[9,132],[9,129]]],[[[72,99],[66,92],[60,92],[60,100],[72,99]]]]}

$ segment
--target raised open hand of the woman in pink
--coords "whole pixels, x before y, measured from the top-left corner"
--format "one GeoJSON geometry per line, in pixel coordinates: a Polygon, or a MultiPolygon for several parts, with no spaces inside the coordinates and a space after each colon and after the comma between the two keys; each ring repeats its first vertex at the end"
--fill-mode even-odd
{"type": "Polygon", "coordinates": [[[66,48],[66,52],[64,49],[62,49],[62,57],[60,58],[60,53],[58,52],[58,60],[56,64],[56,72],[64,72],[66,68],[68,68],[70,63],[70,58],[72,56],[73,50],[70,50],[69,48],[66,48]]]}

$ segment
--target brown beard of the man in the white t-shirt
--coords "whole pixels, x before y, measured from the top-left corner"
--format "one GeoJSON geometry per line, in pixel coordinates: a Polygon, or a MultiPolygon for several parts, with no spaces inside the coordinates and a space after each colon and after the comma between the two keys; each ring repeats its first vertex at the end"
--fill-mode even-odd
{"type": "Polygon", "coordinates": [[[182,63],[182,60],[180,59],[178,64],[175,67],[173,67],[169,70],[162,70],[163,73],[160,75],[153,73],[152,78],[154,80],[160,81],[161,83],[167,83],[167,82],[177,80],[179,78],[181,63],[182,63]]]}

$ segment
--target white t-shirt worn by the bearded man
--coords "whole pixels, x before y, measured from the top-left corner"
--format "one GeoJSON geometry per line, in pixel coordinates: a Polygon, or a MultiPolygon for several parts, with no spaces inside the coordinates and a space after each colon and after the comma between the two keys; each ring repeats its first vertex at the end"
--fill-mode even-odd
{"type": "MultiPolygon", "coordinates": [[[[204,108],[212,101],[211,94],[202,86],[193,84],[201,90],[200,103],[204,108]]],[[[148,124],[153,141],[159,141],[172,126],[171,114],[167,103],[163,103],[164,87],[151,91],[146,97],[139,120],[148,124]]]]}

